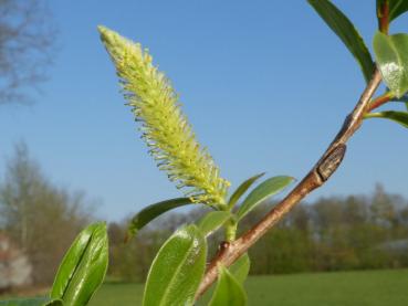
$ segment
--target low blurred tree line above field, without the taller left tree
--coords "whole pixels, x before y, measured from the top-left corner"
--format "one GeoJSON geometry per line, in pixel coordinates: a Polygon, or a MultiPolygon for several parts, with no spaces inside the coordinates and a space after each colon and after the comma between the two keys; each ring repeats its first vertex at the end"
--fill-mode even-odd
{"type": "MultiPolygon", "coordinates": [[[[250,214],[241,231],[273,204],[264,203],[250,214]]],[[[193,210],[164,217],[128,244],[123,243],[127,222],[111,223],[111,276],[145,279],[159,245],[174,229],[202,214],[193,210]]],[[[210,249],[215,252],[217,245],[210,249]]],[[[301,203],[249,254],[252,274],[408,267],[408,201],[378,184],[370,196],[328,197],[301,203]]]]}

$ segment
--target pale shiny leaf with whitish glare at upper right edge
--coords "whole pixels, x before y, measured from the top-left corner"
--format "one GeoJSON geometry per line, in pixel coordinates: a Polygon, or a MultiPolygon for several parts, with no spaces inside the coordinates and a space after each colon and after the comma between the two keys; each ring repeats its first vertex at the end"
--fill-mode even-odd
{"type": "Polygon", "coordinates": [[[377,32],[373,45],[384,82],[397,98],[401,97],[408,91],[408,35],[377,32]]]}

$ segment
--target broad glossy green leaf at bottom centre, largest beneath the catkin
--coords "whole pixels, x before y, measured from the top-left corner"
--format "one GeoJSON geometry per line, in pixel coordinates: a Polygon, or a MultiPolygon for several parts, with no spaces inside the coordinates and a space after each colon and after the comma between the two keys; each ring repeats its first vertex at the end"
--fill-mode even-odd
{"type": "Polygon", "coordinates": [[[188,306],[206,270],[207,241],[196,225],[176,231],[154,260],[144,294],[144,306],[188,306]]]}

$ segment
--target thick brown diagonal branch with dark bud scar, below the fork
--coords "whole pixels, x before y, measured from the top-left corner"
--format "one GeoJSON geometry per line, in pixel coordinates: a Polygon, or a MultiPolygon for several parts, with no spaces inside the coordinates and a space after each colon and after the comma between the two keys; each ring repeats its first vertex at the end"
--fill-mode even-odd
{"type": "Polygon", "coordinates": [[[205,277],[201,281],[196,298],[200,297],[216,281],[218,265],[230,266],[242,254],[244,254],[260,238],[262,238],[273,225],[278,223],[296,203],[314,189],[321,187],[341,165],[346,151],[346,143],[360,127],[364,114],[375,91],[381,82],[380,73],[376,70],[372,81],[364,91],[353,112],[346,117],[342,129],[328,146],[325,154],[312,168],[308,175],[275,205],[258,224],[247,231],[233,242],[220,247],[219,253],[208,265],[205,277]]]}

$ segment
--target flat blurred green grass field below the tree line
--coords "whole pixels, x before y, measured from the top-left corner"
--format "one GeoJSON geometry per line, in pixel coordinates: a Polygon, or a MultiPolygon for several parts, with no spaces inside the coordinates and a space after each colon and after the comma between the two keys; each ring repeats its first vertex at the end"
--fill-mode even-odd
{"type": "MultiPolygon", "coordinates": [[[[247,281],[254,306],[407,306],[408,270],[252,276],[247,281]]],[[[109,283],[92,306],[140,305],[143,285],[109,283]]]]}

